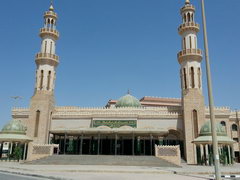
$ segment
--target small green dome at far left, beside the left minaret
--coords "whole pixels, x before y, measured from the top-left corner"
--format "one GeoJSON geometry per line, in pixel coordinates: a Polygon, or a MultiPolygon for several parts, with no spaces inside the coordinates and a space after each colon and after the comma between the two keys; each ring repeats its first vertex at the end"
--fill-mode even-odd
{"type": "Polygon", "coordinates": [[[19,120],[12,120],[2,128],[2,133],[26,134],[26,127],[19,120]]]}

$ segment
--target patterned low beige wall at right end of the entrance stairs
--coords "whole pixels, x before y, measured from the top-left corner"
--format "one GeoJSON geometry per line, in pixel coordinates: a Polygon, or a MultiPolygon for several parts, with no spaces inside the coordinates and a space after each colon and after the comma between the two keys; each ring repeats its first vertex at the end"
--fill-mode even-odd
{"type": "Polygon", "coordinates": [[[158,146],[155,145],[155,156],[164,159],[177,166],[181,165],[180,146],[158,146]]]}

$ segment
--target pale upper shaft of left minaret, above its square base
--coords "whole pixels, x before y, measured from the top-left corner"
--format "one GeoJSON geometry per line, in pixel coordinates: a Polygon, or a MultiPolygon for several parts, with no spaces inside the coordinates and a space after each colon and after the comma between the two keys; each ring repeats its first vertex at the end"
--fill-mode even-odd
{"type": "Polygon", "coordinates": [[[44,14],[44,27],[40,29],[42,38],[41,50],[36,55],[37,82],[36,91],[54,91],[55,69],[59,63],[59,58],[55,54],[56,41],[59,32],[56,30],[57,14],[53,11],[53,5],[44,14]]]}

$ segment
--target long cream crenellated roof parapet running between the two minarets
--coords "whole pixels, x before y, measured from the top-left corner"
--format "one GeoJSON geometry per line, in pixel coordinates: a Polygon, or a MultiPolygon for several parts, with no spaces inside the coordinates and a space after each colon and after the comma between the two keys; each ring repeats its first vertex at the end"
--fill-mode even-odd
{"type": "Polygon", "coordinates": [[[134,118],[178,118],[180,112],[169,112],[164,107],[153,108],[80,108],[56,107],[53,118],[94,118],[94,117],[134,117],[134,118]]]}

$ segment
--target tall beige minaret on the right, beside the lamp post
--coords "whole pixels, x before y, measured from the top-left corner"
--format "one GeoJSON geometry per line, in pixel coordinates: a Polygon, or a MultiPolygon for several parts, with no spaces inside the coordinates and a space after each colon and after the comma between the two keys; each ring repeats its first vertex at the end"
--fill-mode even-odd
{"type": "Polygon", "coordinates": [[[192,141],[198,136],[205,120],[202,94],[202,51],[197,47],[199,24],[195,23],[195,7],[189,0],[181,8],[182,24],[178,28],[182,37],[182,50],[178,53],[181,65],[182,110],[185,131],[185,157],[188,164],[196,163],[196,147],[192,141]]]}

